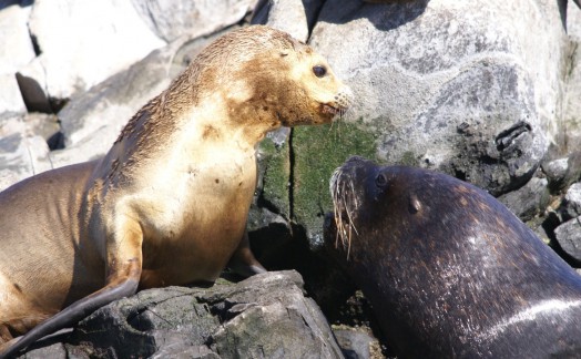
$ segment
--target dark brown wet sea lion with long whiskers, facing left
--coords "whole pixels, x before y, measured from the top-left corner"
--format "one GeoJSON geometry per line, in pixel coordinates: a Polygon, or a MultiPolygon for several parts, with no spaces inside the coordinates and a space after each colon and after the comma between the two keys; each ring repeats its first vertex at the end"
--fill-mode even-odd
{"type": "Polygon", "coordinates": [[[581,353],[581,276],[500,202],[448,175],[350,158],[325,243],[401,358],[581,353]]]}

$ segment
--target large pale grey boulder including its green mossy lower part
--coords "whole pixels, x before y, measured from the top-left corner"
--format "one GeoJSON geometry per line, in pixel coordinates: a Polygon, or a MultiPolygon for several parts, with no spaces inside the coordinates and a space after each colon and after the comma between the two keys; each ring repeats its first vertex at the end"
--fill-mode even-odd
{"type": "Polygon", "coordinates": [[[297,127],[289,141],[289,218],[315,247],[328,178],[353,154],[446,172],[496,196],[532,177],[560,131],[565,66],[559,7],[541,2],[325,2],[308,41],[356,102],[344,124],[297,127]]]}

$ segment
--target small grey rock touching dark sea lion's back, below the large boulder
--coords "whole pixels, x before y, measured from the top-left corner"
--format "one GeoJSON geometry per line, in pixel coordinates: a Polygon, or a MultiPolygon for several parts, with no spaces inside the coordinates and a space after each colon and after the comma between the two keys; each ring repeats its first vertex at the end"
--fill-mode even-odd
{"type": "Polygon", "coordinates": [[[498,197],[522,222],[531,220],[542,214],[549,204],[549,198],[548,181],[538,177],[532,177],[521,188],[498,197]]]}

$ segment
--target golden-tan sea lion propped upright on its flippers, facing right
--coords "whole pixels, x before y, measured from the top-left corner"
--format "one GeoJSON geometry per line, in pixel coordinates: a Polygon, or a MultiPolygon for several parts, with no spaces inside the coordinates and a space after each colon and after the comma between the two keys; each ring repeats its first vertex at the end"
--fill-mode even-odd
{"type": "Polygon", "coordinates": [[[0,337],[28,331],[2,356],[139,289],[213,281],[230,259],[264,271],[245,234],[255,146],[330,122],[349,96],[308,45],[248,27],[202,51],[104,158],[0,193],[0,337]]]}

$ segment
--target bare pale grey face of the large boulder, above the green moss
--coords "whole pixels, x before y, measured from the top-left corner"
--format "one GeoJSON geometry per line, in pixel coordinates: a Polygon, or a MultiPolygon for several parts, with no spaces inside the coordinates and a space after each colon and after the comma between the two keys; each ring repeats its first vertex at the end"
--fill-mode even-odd
{"type": "Polygon", "coordinates": [[[543,11],[528,1],[344,1],[323,8],[310,42],[353,84],[354,113],[379,132],[379,160],[438,168],[498,195],[528,181],[548,146],[560,59],[543,51],[530,63],[550,73],[549,84],[522,64],[537,49],[527,22],[544,29],[537,41],[562,52],[557,4],[543,11]],[[508,21],[511,13],[522,21],[508,21]],[[546,86],[540,107],[531,89],[546,86]]]}

